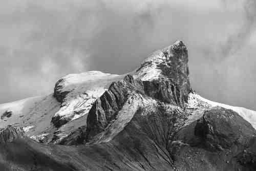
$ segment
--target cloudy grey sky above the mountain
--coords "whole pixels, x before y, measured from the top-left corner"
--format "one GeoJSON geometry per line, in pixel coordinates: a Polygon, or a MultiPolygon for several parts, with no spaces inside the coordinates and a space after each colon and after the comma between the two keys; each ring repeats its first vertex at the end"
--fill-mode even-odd
{"type": "Polygon", "coordinates": [[[255,29],[254,0],[0,0],[0,103],[70,73],[130,72],[183,40],[193,90],[256,110],[255,29]]]}

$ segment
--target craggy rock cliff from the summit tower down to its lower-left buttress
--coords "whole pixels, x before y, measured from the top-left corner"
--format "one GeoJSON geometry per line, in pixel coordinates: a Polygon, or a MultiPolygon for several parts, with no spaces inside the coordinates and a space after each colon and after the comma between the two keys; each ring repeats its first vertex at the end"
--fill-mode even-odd
{"type": "Polygon", "coordinates": [[[184,108],[191,91],[187,49],[182,41],[177,41],[162,54],[148,58],[134,76],[126,75],[121,81],[112,83],[109,90],[94,102],[87,119],[87,141],[114,122],[124,103],[134,94],[184,108]],[[145,78],[147,72],[143,71],[148,65],[156,65],[160,75],[141,79],[141,76],[145,78]]]}

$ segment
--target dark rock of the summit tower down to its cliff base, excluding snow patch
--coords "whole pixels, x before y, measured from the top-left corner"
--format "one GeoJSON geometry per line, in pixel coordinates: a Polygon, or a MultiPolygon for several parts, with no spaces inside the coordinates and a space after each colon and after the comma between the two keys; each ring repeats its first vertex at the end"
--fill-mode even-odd
{"type": "Polygon", "coordinates": [[[187,48],[182,41],[176,41],[174,45],[162,50],[159,56],[146,59],[137,70],[139,77],[154,65],[161,71],[159,78],[144,82],[145,92],[147,95],[158,97],[159,100],[184,108],[188,94],[192,92],[188,76],[187,48]],[[151,92],[152,88],[155,92],[151,92]]]}

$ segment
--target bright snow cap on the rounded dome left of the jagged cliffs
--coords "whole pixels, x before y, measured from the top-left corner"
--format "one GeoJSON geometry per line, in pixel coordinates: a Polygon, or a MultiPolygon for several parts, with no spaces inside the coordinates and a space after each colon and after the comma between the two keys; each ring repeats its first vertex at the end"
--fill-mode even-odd
{"type": "Polygon", "coordinates": [[[113,81],[123,75],[89,71],[80,74],[69,74],[60,82],[60,92],[69,92],[60,110],[54,117],[67,118],[72,121],[88,114],[94,101],[99,98],[113,81]]]}

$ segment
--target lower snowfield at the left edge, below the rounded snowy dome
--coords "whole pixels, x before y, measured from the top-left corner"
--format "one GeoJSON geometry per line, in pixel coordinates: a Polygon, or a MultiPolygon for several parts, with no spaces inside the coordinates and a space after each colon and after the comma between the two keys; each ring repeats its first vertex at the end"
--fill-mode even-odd
{"type": "Polygon", "coordinates": [[[35,139],[42,135],[48,136],[55,131],[51,118],[60,109],[59,107],[60,103],[52,94],[46,97],[33,97],[1,104],[1,114],[8,111],[12,112],[12,115],[1,119],[0,127],[22,126],[25,133],[35,139]]]}

